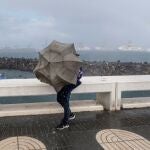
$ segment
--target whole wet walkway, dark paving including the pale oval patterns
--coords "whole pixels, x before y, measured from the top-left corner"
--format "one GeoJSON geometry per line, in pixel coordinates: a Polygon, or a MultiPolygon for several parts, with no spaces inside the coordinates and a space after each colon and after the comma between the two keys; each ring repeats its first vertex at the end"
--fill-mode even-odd
{"type": "Polygon", "coordinates": [[[76,113],[56,131],[62,114],[0,118],[0,150],[150,149],[150,108],[76,113]]]}

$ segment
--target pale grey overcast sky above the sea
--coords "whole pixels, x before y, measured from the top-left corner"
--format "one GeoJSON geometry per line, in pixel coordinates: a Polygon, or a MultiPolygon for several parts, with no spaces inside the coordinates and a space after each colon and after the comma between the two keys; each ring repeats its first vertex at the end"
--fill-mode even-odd
{"type": "Polygon", "coordinates": [[[0,0],[0,47],[43,47],[53,39],[150,47],[150,0],[0,0]]]}

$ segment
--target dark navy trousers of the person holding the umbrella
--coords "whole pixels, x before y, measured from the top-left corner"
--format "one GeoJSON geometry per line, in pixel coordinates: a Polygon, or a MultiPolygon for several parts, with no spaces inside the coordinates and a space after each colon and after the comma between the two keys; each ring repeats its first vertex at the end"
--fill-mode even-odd
{"type": "Polygon", "coordinates": [[[77,82],[76,85],[74,84],[68,84],[64,86],[58,93],[57,93],[57,102],[63,107],[64,109],[64,118],[63,118],[63,123],[68,123],[69,121],[69,116],[71,114],[70,106],[69,106],[69,100],[70,100],[70,95],[71,91],[79,86],[81,84],[80,81],[77,82]]]}

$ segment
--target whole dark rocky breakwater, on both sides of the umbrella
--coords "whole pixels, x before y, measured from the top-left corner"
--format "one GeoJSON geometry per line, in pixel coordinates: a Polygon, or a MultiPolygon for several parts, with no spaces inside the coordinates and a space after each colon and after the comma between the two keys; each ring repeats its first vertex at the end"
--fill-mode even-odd
{"type": "MultiPolygon", "coordinates": [[[[0,69],[15,69],[32,72],[38,60],[27,58],[0,58],[0,69]]],[[[89,62],[83,61],[85,76],[109,76],[109,75],[148,75],[150,63],[136,62],[89,62]]]]}

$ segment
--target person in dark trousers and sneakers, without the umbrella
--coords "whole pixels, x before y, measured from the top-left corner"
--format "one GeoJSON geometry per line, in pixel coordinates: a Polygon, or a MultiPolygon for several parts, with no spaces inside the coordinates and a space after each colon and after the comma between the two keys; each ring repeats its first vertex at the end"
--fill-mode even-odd
{"type": "Polygon", "coordinates": [[[64,109],[64,118],[61,120],[60,124],[56,127],[58,130],[63,130],[65,128],[69,128],[69,121],[75,119],[75,114],[71,112],[69,106],[69,100],[71,91],[78,87],[81,84],[80,79],[82,78],[83,70],[80,67],[76,84],[67,84],[65,85],[58,93],[57,93],[57,102],[64,109]]]}

